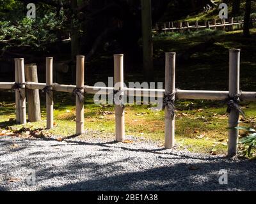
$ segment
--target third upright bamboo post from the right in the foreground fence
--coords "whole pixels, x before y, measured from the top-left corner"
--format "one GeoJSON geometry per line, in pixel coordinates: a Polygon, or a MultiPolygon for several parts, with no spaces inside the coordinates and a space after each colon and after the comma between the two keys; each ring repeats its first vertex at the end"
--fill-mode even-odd
{"type": "MultiPolygon", "coordinates": [[[[115,91],[124,89],[124,55],[114,55],[115,91]]],[[[124,108],[115,105],[116,142],[123,142],[125,138],[124,108]]]]}

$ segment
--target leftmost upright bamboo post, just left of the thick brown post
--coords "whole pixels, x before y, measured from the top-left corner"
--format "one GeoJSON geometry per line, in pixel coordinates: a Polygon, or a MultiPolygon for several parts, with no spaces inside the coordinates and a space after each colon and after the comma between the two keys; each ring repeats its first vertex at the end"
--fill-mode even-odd
{"type": "Polygon", "coordinates": [[[26,91],[25,91],[25,72],[24,72],[24,59],[19,58],[17,59],[18,64],[18,73],[19,73],[19,83],[23,84],[21,85],[22,89],[19,89],[19,105],[20,105],[20,124],[26,124],[26,91]]]}

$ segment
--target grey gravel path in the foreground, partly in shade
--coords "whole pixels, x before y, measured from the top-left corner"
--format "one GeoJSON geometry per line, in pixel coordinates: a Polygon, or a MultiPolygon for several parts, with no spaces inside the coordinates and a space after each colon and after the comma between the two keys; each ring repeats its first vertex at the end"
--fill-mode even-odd
{"type": "Polygon", "coordinates": [[[147,142],[1,137],[0,191],[255,191],[255,164],[147,142]]]}

